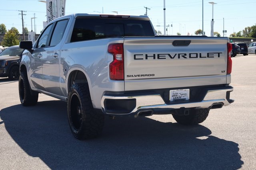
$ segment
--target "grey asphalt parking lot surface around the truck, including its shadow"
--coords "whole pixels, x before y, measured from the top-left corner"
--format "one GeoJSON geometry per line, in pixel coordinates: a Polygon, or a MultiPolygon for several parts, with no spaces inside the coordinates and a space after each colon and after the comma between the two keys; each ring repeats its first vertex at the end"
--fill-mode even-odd
{"type": "Polygon", "coordinates": [[[105,119],[101,137],[74,139],[66,103],[40,94],[20,105],[18,82],[0,78],[1,169],[256,169],[256,55],[232,58],[235,102],[200,125],[171,115],[105,119]]]}

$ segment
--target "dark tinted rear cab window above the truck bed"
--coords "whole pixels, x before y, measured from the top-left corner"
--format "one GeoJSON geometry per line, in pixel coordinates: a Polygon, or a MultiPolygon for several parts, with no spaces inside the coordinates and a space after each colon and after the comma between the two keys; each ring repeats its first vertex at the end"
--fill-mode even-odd
{"type": "Polygon", "coordinates": [[[77,18],[70,42],[124,36],[154,36],[150,21],[77,18]]]}

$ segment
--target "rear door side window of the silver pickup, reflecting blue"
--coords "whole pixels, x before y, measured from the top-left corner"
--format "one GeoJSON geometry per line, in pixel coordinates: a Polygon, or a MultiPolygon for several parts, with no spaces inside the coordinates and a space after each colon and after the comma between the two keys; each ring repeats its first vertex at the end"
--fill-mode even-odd
{"type": "Polygon", "coordinates": [[[60,43],[60,41],[63,37],[64,31],[66,29],[67,23],[68,23],[68,20],[58,21],[56,23],[56,26],[55,26],[53,34],[52,34],[50,46],[55,46],[58,43],[60,43]]]}

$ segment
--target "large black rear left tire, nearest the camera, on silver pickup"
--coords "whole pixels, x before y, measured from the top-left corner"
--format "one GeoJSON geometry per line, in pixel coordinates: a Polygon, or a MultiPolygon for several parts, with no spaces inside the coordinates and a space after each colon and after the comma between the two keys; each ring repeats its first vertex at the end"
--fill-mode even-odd
{"type": "Polygon", "coordinates": [[[94,110],[87,83],[73,84],[68,94],[68,122],[76,139],[92,139],[102,133],[104,115],[94,110]]]}

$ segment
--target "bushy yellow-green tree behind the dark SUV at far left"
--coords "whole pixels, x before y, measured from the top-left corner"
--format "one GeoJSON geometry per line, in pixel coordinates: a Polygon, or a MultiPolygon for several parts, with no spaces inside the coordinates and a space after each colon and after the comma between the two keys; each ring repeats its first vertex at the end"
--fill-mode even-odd
{"type": "Polygon", "coordinates": [[[12,27],[5,35],[2,41],[4,46],[19,45],[19,31],[15,27],[12,27]]]}

